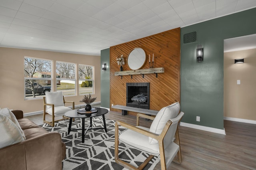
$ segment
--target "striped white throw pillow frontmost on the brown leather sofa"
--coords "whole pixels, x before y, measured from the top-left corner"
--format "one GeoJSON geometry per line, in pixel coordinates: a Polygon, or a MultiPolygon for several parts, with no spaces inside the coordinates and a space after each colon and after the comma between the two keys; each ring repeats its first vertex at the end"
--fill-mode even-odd
{"type": "Polygon", "coordinates": [[[0,115],[0,148],[24,141],[19,128],[5,115],[0,115]]]}

